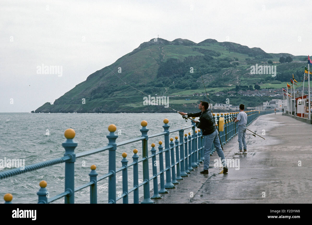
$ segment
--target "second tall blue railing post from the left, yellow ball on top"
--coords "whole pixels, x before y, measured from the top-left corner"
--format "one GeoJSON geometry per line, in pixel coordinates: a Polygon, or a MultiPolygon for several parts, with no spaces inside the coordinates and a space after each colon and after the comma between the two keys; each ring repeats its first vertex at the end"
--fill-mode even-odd
{"type": "Polygon", "coordinates": [[[112,145],[109,149],[108,155],[108,172],[112,172],[113,175],[108,177],[108,203],[116,203],[116,139],[118,135],[115,135],[116,126],[110,124],[108,126],[109,135],[106,135],[108,139],[108,145],[112,145]]]}

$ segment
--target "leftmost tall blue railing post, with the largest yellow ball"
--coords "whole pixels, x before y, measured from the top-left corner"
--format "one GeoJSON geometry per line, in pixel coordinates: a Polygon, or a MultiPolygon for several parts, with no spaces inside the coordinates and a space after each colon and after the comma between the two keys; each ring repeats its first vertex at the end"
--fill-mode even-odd
{"type": "Polygon", "coordinates": [[[75,203],[75,161],[76,154],[75,148],[77,147],[77,142],[73,141],[76,133],[73,129],[67,129],[64,132],[66,141],[62,143],[65,149],[64,156],[70,156],[71,159],[65,162],[65,191],[69,191],[70,194],[65,196],[65,203],[75,203]]]}

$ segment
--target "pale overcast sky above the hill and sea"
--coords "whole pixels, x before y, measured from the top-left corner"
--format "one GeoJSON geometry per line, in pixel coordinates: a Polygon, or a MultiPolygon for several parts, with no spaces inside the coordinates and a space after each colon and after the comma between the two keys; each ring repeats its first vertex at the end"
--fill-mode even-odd
{"type": "Polygon", "coordinates": [[[311,54],[310,1],[0,1],[0,112],[53,103],[159,35],[311,54]],[[62,75],[37,66],[62,66],[62,75]],[[13,103],[13,104],[12,104],[13,103]]]}

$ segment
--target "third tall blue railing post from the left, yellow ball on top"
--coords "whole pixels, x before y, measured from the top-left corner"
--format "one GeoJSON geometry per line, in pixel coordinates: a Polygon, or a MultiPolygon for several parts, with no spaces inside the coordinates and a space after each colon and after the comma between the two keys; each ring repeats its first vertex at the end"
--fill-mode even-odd
{"type": "Polygon", "coordinates": [[[142,140],[142,158],[145,158],[145,160],[143,160],[143,181],[145,182],[145,184],[143,184],[144,199],[143,201],[141,201],[141,203],[154,203],[149,195],[149,153],[147,146],[147,141],[149,140],[147,132],[149,131],[149,129],[146,128],[147,122],[145,120],[141,122],[141,126],[141,137],[145,137],[145,139],[142,140]]]}

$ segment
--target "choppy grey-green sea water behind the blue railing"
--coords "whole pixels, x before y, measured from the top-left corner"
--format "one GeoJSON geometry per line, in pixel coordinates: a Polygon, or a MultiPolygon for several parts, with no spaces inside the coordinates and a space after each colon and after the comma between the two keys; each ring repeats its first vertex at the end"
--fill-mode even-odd
{"type": "MultiPolygon", "coordinates": [[[[169,109],[168,109],[169,110],[169,109]]],[[[194,112],[199,111],[194,108],[194,112]]],[[[0,113],[0,160],[24,160],[25,166],[34,163],[60,158],[64,156],[62,142],[66,139],[64,131],[72,128],[76,132],[74,141],[78,143],[75,153],[107,146],[108,126],[115,124],[118,135],[116,142],[141,136],[139,131],[142,120],[148,122],[148,134],[163,132],[163,119],[169,120],[169,131],[191,125],[185,122],[178,113],[0,113]]],[[[184,133],[190,132],[190,128],[184,133]]],[[[169,137],[178,136],[178,132],[169,137]]],[[[164,142],[163,136],[150,138],[148,141],[149,155],[151,144],[155,143],[158,151],[158,141],[164,142]]],[[[164,143],[163,143],[164,146],[164,143]]],[[[121,154],[127,153],[129,163],[133,162],[133,149],[138,149],[139,159],[142,158],[142,142],[134,142],[117,147],[116,168],[121,167],[121,154]]],[[[157,157],[158,160],[158,157],[157,157]]],[[[152,176],[152,160],[149,159],[149,174],[152,176]]],[[[108,173],[108,151],[76,159],[75,188],[90,181],[90,166],[96,165],[98,177],[108,173]]],[[[159,164],[158,164],[159,165],[159,164]]],[[[0,172],[13,168],[1,167],[0,172]]],[[[158,166],[159,172],[159,166],[158,166]]],[[[12,203],[37,203],[39,182],[47,182],[48,197],[53,197],[65,191],[65,163],[48,166],[39,170],[8,177],[0,182],[0,197],[6,193],[13,195],[12,203]]],[[[142,162],[139,163],[139,183],[143,182],[142,162]]],[[[158,183],[159,183],[158,176],[158,183]]],[[[128,169],[128,189],[133,187],[133,167],[128,169]]],[[[150,189],[153,182],[150,182],[150,189]]],[[[116,174],[116,198],[122,193],[122,172],[116,174]]],[[[98,203],[108,202],[108,179],[97,184],[98,203]]],[[[143,186],[139,188],[143,196],[143,186]]],[[[2,197],[1,197],[2,198],[2,197]]],[[[129,203],[133,202],[133,193],[129,194],[129,203]]],[[[53,203],[64,203],[64,198],[53,203]]],[[[75,203],[90,203],[90,188],[75,192],[75,203]]],[[[120,199],[117,203],[122,203],[120,199]]]]}

